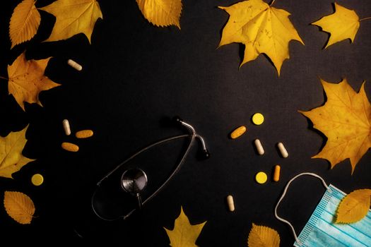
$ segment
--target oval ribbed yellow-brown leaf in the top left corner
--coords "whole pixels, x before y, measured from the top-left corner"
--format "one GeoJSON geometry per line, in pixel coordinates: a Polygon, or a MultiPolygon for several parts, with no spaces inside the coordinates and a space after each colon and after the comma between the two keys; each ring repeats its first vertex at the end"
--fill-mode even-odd
{"type": "Polygon", "coordinates": [[[35,2],[35,0],[23,0],[14,8],[9,25],[11,48],[35,36],[41,21],[35,2]]]}

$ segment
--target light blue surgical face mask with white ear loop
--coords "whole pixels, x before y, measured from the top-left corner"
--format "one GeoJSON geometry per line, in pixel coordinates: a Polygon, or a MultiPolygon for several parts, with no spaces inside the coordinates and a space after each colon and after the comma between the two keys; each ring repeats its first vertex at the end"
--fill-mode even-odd
{"type": "Polygon", "coordinates": [[[371,210],[359,222],[353,224],[336,224],[336,210],[341,199],[346,195],[335,186],[327,186],[324,179],[317,174],[302,173],[293,177],[285,187],[280,200],[274,209],[276,218],[287,223],[293,230],[295,236],[294,246],[371,246],[371,210]],[[320,179],[326,187],[321,201],[314,210],[307,224],[299,236],[296,235],[293,225],[277,215],[277,207],[285,196],[290,183],[302,175],[315,176],[320,179]]]}

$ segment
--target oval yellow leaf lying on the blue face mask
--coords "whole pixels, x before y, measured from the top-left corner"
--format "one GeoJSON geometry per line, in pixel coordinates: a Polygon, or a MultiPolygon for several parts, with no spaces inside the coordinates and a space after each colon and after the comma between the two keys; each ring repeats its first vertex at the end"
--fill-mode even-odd
{"type": "Polygon", "coordinates": [[[363,219],[370,210],[371,190],[360,189],[346,195],[336,211],[336,223],[355,223],[363,219]]]}

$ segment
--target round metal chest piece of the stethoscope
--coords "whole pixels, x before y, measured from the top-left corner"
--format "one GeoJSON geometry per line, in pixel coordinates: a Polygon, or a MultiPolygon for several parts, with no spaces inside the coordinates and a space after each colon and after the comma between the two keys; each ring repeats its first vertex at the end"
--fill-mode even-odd
{"type": "Polygon", "coordinates": [[[139,168],[128,169],[124,171],[121,177],[121,188],[125,192],[136,196],[139,208],[142,207],[140,193],[144,188],[146,188],[147,181],[146,173],[139,168]]]}

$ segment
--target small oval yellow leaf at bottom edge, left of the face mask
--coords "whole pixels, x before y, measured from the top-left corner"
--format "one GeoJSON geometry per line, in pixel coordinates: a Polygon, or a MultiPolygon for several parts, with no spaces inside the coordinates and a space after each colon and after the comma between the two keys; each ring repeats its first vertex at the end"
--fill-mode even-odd
{"type": "Polygon", "coordinates": [[[252,229],[247,239],[249,247],[279,247],[280,235],[274,229],[258,226],[252,223],[252,229]]]}

